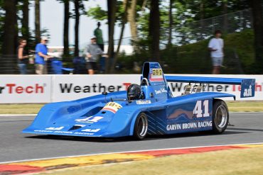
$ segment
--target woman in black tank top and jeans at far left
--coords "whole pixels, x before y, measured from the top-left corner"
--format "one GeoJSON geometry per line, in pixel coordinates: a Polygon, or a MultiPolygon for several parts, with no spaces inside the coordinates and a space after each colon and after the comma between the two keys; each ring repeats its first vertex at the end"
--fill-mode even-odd
{"type": "Polygon", "coordinates": [[[28,52],[26,51],[26,40],[19,40],[19,46],[17,48],[18,67],[20,74],[26,74],[26,64],[28,64],[28,52]]]}

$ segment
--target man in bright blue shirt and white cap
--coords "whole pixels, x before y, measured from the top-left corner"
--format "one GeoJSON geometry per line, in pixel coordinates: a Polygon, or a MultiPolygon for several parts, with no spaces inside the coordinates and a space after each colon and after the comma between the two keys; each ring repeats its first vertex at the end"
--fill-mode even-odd
{"type": "Polygon", "coordinates": [[[42,37],[41,43],[36,45],[36,74],[47,74],[46,61],[51,57],[48,55],[48,47],[46,46],[48,38],[42,37]]]}

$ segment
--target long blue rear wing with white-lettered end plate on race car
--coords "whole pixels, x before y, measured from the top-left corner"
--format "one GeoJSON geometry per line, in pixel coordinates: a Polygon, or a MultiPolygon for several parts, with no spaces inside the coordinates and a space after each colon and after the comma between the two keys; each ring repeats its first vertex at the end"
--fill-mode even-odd
{"type": "Polygon", "coordinates": [[[235,78],[220,78],[220,77],[184,77],[184,76],[165,76],[168,82],[186,82],[200,84],[237,84],[241,85],[240,97],[253,97],[255,79],[235,79],[235,78]]]}

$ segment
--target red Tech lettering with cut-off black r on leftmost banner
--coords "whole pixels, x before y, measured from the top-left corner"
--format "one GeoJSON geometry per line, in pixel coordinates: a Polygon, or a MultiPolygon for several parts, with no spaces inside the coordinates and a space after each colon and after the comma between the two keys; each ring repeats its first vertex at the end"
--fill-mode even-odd
{"type": "Polygon", "coordinates": [[[20,86],[18,84],[6,84],[6,86],[0,86],[0,94],[43,94],[45,90],[45,84],[42,86],[34,84],[32,86],[20,86]]]}

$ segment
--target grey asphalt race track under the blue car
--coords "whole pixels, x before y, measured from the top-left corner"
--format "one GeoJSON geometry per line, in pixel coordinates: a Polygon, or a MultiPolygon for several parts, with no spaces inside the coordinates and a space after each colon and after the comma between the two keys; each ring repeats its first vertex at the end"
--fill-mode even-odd
{"type": "Polygon", "coordinates": [[[21,134],[33,118],[0,116],[0,163],[106,152],[263,142],[263,113],[230,113],[230,123],[235,126],[228,126],[222,135],[193,132],[151,136],[143,141],[130,137],[112,140],[21,134]]]}

